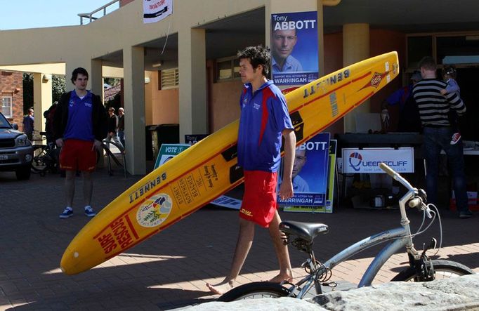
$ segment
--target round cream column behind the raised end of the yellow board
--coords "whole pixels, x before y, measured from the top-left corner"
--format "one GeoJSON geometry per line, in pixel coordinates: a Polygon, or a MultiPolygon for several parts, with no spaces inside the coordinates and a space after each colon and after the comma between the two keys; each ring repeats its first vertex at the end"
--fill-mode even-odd
{"type": "MultiPolygon", "coordinates": [[[[343,65],[344,67],[369,58],[369,24],[343,25],[343,65]]],[[[344,132],[356,129],[355,115],[370,111],[369,100],[363,102],[344,117],[344,132]]]]}

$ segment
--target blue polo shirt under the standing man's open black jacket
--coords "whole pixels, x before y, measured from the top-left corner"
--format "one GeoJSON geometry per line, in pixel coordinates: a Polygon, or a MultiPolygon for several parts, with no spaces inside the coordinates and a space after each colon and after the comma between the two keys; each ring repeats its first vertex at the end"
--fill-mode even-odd
{"type": "Polygon", "coordinates": [[[68,101],[68,121],[63,139],[93,141],[93,96],[88,91],[84,98],[79,98],[75,91],[70,93],[68,101]]]}

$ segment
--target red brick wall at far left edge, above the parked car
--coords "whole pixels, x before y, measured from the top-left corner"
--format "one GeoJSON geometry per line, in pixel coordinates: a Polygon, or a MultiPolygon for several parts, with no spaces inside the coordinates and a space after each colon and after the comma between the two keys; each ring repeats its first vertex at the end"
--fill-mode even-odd
{"type": "Polygon", "coordinates": [[[0,71],[1,96],[11,96],[13,118],[8,118],[11,123],[18,124],[22,130],[23,120],[23,74],[22,72],[0,71]]]}

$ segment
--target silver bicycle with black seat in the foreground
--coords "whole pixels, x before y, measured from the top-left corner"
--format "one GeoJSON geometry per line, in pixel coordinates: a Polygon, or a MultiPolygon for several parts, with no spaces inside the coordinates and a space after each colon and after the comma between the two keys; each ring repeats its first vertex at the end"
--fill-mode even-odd
{"type": "MultiPolygon", "coordinates": [[[[329,228],[323,223],[301,223],[296,221],[283,221],[280,223],[280,230],[285,234],[284,243],[291,244],[299,251],[308,253],[308,259],[301,265],[304,268],[306,277],[292,284],[283,282],[282,284],[272,282],[253,282],[243,284],[231,289],[223,296],[218,298],[219,301],[233,301],[251,298],[279,298],[293,297],[302,299],[310,289],[315,286],[317,295],[322,293],[322,286],[329,286],[334,289],[336,284],[328,282],[332,277],[332,269],[339,263],[350,258],[351,256],[363,251],[371,246],[376,246],[385,241],[391,241],[384,246],[376,255],[372,263],[362,276],[357,287],[370,286],[374,277],[379,272],[386,261],[397,253],[402,247],[406,248],[409,257],[409,267],[399,272],[391,281],[406,282],[428,282],[433,279],[456,277],[465,274],[473,274],[473,270],[465,265],[450,260],[433,260],[426,255],[428,249],[435,249],[437,241],[433,238],[431,244],[424,248],[424,251],[417,251],[412,243],[413,237],[425,232],[432,225],[436,216],[440,224],[440,216],[438,209],[433,204],[426,204],[426,192],[416,189],[409,182],[400,176],[399,173],[393,171],[386,164],[381,163],[380,167],[407,189],[406,194],[399,200],[399,209],[401,214],[401,227],[386,230],[379,234],[373,234],[370,237],[357,241],[357,243],[348,246],[348,248],[337,253],[335,256],[320,263],[316,260],[313,252],[313,240],[317,235],[327,233],[329,228]],[[422,211],[423,223],[416,233],[412,234],[409,227],[409,219],[406,214],[406,206],[417,208],[422,211]],[[431,219],[430,223],[422,230],[426,216],[431,219]]],[[[440,230],[442,227],[440,225],[440,230]]],[[[441,234],[442,235],[442,234],[441,234]]],[[[442,237],[441,237],[442,238],[442,237]]],[[[439,246],[440,248],[440,246],[439,246]]]]}

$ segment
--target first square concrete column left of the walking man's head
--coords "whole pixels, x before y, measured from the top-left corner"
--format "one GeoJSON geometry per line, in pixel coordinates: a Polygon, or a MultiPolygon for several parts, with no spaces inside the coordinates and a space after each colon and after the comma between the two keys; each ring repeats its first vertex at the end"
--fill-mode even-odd
{"type": "Polygon", "coordinates": [[[178,32],[180,73],[180,142],[185,134],[208,134],[206,100],[206,42],[204,29],[183,28],[178,32]]]}

